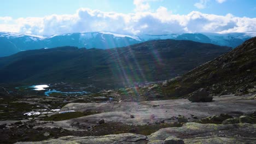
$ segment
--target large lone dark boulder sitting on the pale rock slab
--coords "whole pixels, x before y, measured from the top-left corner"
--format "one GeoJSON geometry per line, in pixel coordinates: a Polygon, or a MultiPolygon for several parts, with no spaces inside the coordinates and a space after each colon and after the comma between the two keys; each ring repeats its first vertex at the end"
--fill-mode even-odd
{"type": "Polygon", "coordinates": [[[189,101],[192,102],[209,102],[212,101],[212,96],[209,94],[209,92],[206,91],[205,88],[200,88],[197,91],[190,94],[189,101]]]}

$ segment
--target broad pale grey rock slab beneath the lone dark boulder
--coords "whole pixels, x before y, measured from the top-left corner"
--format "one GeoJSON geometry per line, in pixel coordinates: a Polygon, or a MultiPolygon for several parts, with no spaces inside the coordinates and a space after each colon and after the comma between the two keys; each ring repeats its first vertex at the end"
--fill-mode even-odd
{"type": "MultiPolygon", "coordinates": [[[[185,118],[179,118],[179,122],[195,122],[198,119],[213,115],[218,116],[221,113],[239,117],[243,115],[243,113],[253,113],[253,111],[255,111],[256,100],[248,100],[248,97],[249,96],[246,95],[244,97],[225,95],[223,97],[214,97],[214,101],[211,103],[191,103],[187,99],[141,101],[139,103],[72,103],[62,107],[60,111],[74,110],[86,112],[90,110],[97,111],[98,113],[58,121],[53,124],[49,123],[45,124],[45,126],[71,128],[74,122],[79,122],[80,125],[89,127],[97,124],[101,119],[104,119],[105,123],[117,122],[132,125],[146,125],[148,123],[153,124],[161,121],[171,123],[178,122],[178,115],[187,118],[187,120],[185,120],[185,118]],[[153,105],[159,106],[154,107],[153,105]],[[191,117],[191,115],[198,119],[191,117]]],[[[55,113],[53,115],[55,115],[55,113]]],[[[220,123],[222,123],[222,121],[220,123]]]]}

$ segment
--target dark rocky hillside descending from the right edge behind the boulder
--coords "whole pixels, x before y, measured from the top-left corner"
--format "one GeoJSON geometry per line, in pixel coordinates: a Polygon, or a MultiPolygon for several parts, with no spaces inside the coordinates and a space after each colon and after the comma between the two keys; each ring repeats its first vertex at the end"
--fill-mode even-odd
{"type": "Polygon", "coordinates": [[[170,97],[181,97],[199,88],[212,94],[256,92],[256,37],[182,77],[168,80],[161,89],[170,97]]]}

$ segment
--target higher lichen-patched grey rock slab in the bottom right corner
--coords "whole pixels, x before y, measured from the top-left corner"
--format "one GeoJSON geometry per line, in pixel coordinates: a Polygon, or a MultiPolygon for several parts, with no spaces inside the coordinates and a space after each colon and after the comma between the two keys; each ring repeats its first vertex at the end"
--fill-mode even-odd
{"type": "Polygon", "coordinates": [[[149,143],[159,144],[170,137],[184,143],[255,143],[255,127],[256,124],[186,123],[179,128],[160,129],[148,139],[149,143]]]}

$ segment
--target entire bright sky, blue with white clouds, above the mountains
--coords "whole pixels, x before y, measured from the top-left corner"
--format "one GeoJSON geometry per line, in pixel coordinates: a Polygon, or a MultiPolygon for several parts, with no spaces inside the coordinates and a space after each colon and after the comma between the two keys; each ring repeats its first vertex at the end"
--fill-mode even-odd
{"type": "Polygon", "coordinates": [[[255,0],[8,0],[1,5],[1,32],[256,32],[255,0]]]}

